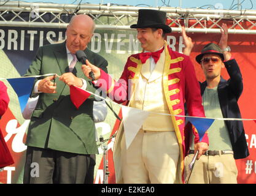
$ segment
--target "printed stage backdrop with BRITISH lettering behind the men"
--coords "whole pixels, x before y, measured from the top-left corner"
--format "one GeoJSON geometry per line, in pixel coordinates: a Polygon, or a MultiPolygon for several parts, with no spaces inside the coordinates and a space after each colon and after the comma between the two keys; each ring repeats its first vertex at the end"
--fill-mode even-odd
{"type": "MultiPolygon", "coordinates": [[[[14,78],[25,74],[29,64],[33,61],[37,48],[41,45],[61,42],[65,39],[65,29],[49,28],[0,28],[0,78],[14,78]]],[[[199,64],[195,61],[195,56],[200,53],[201,48],[209,42],[217,42],[220,34],[188,34],[195,41],[195,48],[191,59],[195,64],[196,77],[203,81],[203,72],[199,64]]],[[[173,50],[182,52],[184,45],[179,33],[169,34],[166,37],[173,50]]],[[[256,55],[255,35],[230,35],[229,45],[233,56],[238,61],[244,81],[244,92],[239,99],[242,118],[256,118],[256,83],[254,82],[256,65],[253,56],[256,55]]],[[[122,73],[126,59],[132,53],[141,51],[136,40],[136,31],[107,31],[96,30],[88,48],[103,56],[109,62],[109,74],[118,79],[122,73]]],[[[227,71],[223,69],[222,76],[227,79],[227,71]]],[[[2,116],[0,127],[5,137],[7,145],[14,157],[15,164],[5,167],[0,172],[0,183],[23,183],[23,166],[25,163],[26,130],[29,120],[23,119],[17,96],[9,85],[8,93],[10,97],[9,110],[2,116]]],[[[112,104],[111,104],[112,105],[112,104]]],[[[120,115],[120,107],[112,105],[116,113],[120,115]]],[[[103,123],[96,124],[98,135],[103,135],[104,139],[111,137],[118,129],[120,122],[108,110],[107,118],[103,123]]],[[[247,144],[250,156],[246,159],[237,160],[238,183],[256,183],[256,123],[254,121],[244,121],[247,144]]],[[[109,157],[109,183],[115,183],[115,172],[112,161],[112,150],[114,139],[108,141],[109,157]]],[[[103,182],[103,151],[99,146],[99,154],[96,156],[95,183],[103,182]]]]}

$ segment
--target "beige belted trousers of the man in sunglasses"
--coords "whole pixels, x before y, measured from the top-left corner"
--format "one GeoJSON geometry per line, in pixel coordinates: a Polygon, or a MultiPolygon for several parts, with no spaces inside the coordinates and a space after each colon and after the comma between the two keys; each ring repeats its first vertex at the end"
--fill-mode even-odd
{"type": "MultiPolygon", "coordinates": [[[[188,164],[192,161],[193,154],[185,157],[185,178],[188,173],[188,164]]],[[[202,155],[196,160],[189,184],[236,184],[238,170],[233,154],[215,156],[202,155]]]]}

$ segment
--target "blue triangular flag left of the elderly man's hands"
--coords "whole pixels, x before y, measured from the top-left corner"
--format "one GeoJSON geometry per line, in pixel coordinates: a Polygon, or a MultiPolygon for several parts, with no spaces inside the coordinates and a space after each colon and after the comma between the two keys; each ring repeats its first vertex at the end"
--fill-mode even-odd
{"type": "Polygon", "coordinates": [[[18,101],[20,102],[20,109],[22,113],[26,107],[29,95],[34,86],[34,77],[9,78],[7,81],[9,81],[10,85],[18,96],[18,101]]]}

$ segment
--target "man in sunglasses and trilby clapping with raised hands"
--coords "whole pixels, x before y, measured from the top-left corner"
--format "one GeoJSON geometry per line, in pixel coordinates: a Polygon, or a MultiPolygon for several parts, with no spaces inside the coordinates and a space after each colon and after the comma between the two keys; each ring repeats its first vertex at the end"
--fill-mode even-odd
{"type": "MultiPolygon", "coordinates": [[[[204,111],[209,118],[241,118],[238,99],[242,94],[242,75],[236,60],[228,47],[228,28],[222,25],[222,37],[219,45],[208,43],[196,62],[201,65],[206,81],[200,83],[204,111]],[[220,73],[226,68],[230,79],[224,80],[220,73]]],[[[190,55],[192,40],[185,35],[185,55],[190,55]]],[[[188,183],[237,183],[238,171],[235,159],[249,156],[242,121],[215,120],[208,129],[209,150],[198,160],[188,183]]],[[[193,144],[190,145],[193,149],[193,144]]],[[[185,170],[189,171],[194,151],[188,151],[185,158],[185,170]]]]}

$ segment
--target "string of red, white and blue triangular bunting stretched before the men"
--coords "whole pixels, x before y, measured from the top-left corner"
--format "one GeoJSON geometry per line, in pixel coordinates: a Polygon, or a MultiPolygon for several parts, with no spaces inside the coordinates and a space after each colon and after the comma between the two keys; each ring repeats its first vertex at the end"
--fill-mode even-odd
{"type": "MultiPolygon", "coordinates": [[[[47,74],[42,76],[49,76],[53,74],[47,74]]],[[[29,95],[31,94],[31,90],[34,85],[34,79],[36,77],[42,76],[33,76],[33,77],[21,77],[21,78],[7,78],[10,85],[16,92],[18,96],[18,101],[20,103],[21,113],[26,107],[26,103],[28,102],[29,95]]],[[[77,86],[69,86],[70,88],[70,97],[72,103],[75,105],[77,109],[79,109],[80,105],[85,102],[85,100],[93,94],[92,92],[83,90],[77,86]]],[[[95,95],[95,94],[94,94],[95,95]]],[[[100,97],[98,95],[95,95],[100,97]]],[[[103,97],[100,97],[103,100],[103,97]]],[[[115,102],[113,102],[116,104],[115,102]]],[[[133,141],[134,137],[138,133],[141,128],[144,120],[149,115],[149,111],[140,110],[137,108],[126,107],[122,105],[122,113],[123,113],[123,125],[125,128],[125,138],[126,138],[126,148],[128,148],[133,141]]],[[[160,114],[161,115],[161,114],[160,114]]],[[[166,114],[163,114],[166,115],[166,114]]],[[[174,115],[180,116],[180,115],[174,115]]],[[[186,118],[187,121],[193,124],[198,131],[198,135],[200,137],[200,141],[202,140],[205,132],[209,129],[215,119],[217,120],[236,120],[236,121],[254,121],[256,123],[256,119],[228,119],[228,118],[196,118],[195,116],[182,116],[186,118]]]]}

